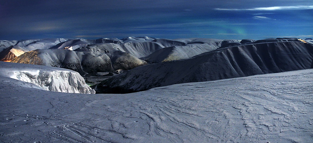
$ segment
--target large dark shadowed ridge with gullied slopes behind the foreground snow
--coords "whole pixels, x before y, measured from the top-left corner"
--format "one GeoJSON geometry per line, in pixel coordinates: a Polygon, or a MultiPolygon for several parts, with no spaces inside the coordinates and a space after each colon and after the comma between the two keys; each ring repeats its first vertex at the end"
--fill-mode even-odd
{"type": "Polygon", "coordinates": [[[97,93],[130,93],[177,83],[203,82],[313,68],[313,46],[298,40],[255,41],[218,48],[186,60],[141,66],[111,77],[97,93]]]}

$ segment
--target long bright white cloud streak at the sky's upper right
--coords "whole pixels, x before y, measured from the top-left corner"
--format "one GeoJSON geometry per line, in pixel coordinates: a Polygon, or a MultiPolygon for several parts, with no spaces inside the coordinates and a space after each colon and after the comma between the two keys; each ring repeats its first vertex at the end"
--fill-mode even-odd
{"type": "Polygon", "coordinates": [[[227,10],[227,11],[274,11],[274,10],[301,10],[301,9],[313,9],[313,5],[298,5],[298,6],[277,6],[277,7],[260,7],[260,8],[214,8],[215,10],[227,10]]]}

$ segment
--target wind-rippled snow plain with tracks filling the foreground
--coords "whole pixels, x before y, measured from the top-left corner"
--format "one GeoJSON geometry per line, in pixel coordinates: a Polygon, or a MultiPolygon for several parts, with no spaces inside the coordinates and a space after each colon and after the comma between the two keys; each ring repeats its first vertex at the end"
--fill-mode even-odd
{"type": "Polygon", "coordinates": [[[0,140],[309,143],[312,77],[309,69],[86,95],[28,88],[1,76],[0,140]]]}

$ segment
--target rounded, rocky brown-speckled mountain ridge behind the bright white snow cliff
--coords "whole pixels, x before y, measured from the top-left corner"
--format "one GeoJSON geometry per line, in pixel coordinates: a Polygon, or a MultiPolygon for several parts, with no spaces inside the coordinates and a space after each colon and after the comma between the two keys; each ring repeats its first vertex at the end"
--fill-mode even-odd
{"type": "Polygon", "coordinates": [[[146,64],[145,61],[121,51],[115,52],[111,58],[105,53],[93,54],[90,51],[38,49],[26,52],[11,62],[61,67],[77,71],[81,75],[95,75],[97,72],[118,69],[129,70],[146,64]]]}

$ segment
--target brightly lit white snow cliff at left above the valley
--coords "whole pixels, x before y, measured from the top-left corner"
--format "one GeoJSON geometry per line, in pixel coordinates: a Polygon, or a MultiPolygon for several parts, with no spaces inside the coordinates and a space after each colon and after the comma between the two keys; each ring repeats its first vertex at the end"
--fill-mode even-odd
{"type": "Polygon", "coordinates": [[[32,83],[44,90],[66,93],[95,93],[95,90],[91,89],[85,83],[84,78],[75,71],[2,61],[0,65],[0,77],[32,83]]]}

